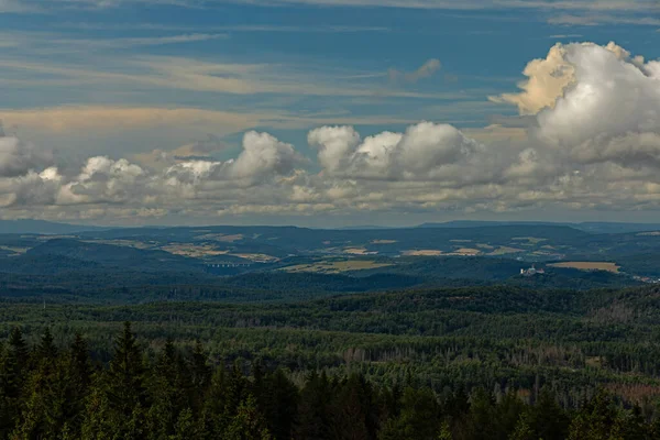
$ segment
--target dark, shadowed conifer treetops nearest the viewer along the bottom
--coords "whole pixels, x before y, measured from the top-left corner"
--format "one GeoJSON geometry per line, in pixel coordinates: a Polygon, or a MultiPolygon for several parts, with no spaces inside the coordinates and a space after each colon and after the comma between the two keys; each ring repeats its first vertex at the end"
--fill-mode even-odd
{"type": "Polygon", "coordinates": [[[111,359],[48,328],[34,345],[14,328],[0,362],[2,439],[660,439],[660,419],[603,389],[563,408],[549,387],[457,386],[439,395],[411,376],[376,385],[359,371],[293,376],[260,360],[210,359],[172,340],[150,355],[130,323],[111,359]]]}

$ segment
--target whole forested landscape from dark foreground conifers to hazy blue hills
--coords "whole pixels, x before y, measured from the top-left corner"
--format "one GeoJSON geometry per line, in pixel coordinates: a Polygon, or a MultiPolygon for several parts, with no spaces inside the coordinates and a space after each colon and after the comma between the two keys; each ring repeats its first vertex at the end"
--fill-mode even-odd
{"type": "Polygon", "coordinates": [[[0,237],[0,440],[660,439],[660,239],[522,230],[0,237]]]}

